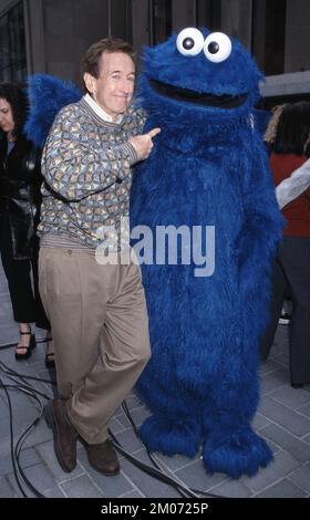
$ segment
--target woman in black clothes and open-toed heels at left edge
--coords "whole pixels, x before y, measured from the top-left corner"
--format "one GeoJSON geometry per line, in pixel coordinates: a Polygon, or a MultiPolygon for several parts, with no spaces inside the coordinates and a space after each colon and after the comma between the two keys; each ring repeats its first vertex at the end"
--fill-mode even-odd
{"type": "Polygon", "coordinates": [[[50,323],[38,290],[40,154],[22,134],[27,96],[14,83],[0,84],[0,252],[13,318],[19,324],[17,360],[28,360],[35,346],[30,323],[46,330],[45,364],[54,365],[50,323]],[[33,275],[33,288],[31,282],[33,275]]]}

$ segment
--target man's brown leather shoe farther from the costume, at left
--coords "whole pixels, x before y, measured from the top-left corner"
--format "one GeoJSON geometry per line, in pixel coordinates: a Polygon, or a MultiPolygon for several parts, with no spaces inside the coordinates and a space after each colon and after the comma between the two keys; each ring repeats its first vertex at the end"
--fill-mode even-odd
{"type": "Polygon", "coordinates": [[[65,401],[54,399],[52,406],[44,408],[44,415],[53,430],[58,461],[64,471],[71,472],[76,466],[78,431],[68,417],[65,401]]]}

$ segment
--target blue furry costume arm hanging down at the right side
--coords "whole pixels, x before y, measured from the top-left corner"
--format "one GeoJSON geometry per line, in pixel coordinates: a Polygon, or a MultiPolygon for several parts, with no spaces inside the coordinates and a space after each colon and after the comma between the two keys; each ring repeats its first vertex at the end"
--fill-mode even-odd
{"type": "Polygon", "coordinates": [[[266,150],[259,136],[252,138],[242,187],[245,222],[237,245],[241,270],[254,259],[257,268],[269,266],[283,229],[266,150]]]}

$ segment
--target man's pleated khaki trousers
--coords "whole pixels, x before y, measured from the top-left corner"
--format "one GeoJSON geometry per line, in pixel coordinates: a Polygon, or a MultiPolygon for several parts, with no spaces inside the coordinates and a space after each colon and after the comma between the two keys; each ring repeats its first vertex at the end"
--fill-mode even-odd
{"type": "Polygon", "coordinates": [[[51,321],[58,389],[90,444],[134,386],[151,350],[140,266],[100,264],[87,252],[41,248],[39,284],[51,321]]]}

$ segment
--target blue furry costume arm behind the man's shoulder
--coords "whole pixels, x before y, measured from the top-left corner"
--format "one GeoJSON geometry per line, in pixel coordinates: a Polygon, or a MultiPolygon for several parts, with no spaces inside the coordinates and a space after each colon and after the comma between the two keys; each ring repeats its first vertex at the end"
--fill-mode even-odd
{"type": "Polygon", "coordinates": [[[30,111],[24,125],[25,136],[42,148],[56,113],[65,105],[81,98],[79,89],[71,82],[50,74],[33,74],[28,80],[30,111]]]}

